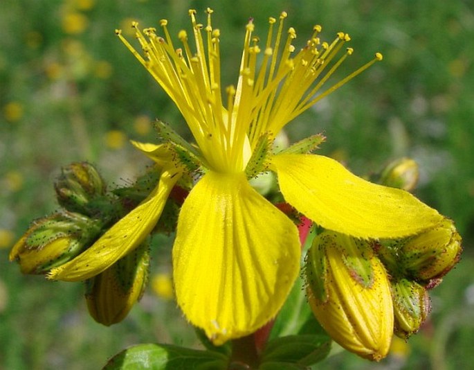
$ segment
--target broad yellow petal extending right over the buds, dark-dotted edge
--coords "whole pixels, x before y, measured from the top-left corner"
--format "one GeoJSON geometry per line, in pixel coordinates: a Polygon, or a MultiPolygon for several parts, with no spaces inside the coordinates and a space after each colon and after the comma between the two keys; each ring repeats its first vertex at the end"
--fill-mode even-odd
{"type": "Polygon", "coordinates": [[[358,238],[398,238],[442,220],[410,193],[367,182],[334,159],[276,155],[272,161],[286,202],[326,229],[358,238]]]}

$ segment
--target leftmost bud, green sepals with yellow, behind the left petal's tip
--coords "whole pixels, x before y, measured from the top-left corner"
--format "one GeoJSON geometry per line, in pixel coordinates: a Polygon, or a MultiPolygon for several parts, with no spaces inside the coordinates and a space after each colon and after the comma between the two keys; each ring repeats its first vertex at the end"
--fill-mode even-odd
{"type": "Polygon", "coordinates": [[[10,261],[17,261],[24,274],[45,274],[89,247],[101,227],[98,220],[66,211],[40,218],[12,247],[10,261]]]}

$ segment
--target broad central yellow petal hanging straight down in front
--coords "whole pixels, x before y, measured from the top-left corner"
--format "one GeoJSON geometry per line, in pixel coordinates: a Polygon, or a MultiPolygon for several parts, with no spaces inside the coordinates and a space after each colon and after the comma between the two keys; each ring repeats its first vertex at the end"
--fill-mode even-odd
{"type": "Polygon", "coordinates": [[[300,269],[298,231],[244,173],[207,173],[179,215],[173,248],[176,298],[215,344],[274,317],[300,269]]]}

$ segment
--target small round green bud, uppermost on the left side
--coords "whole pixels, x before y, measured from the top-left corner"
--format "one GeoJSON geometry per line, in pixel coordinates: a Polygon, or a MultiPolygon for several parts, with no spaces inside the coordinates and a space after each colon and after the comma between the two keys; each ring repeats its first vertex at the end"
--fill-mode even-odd
{"type": "Polygon", "coordinates": [[[93,214],[93,200],[105,195],[105,183],[94,166],[75,162],[61,168],[55,181],[57,201],[68,211],[93,214]]]}

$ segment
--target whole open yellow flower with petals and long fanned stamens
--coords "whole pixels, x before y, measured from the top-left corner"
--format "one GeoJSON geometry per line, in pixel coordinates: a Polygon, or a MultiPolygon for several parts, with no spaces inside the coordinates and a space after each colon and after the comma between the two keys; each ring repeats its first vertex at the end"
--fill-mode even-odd
{"type": "Polygon", "coordinates": [[[320,42],[321,28],[315,26],[306,46],[296,52],[291,44],[295,30],[289,28],[284,37],[286,13],[282,13],[279,22],[269,19],[263,51],[253,34],[253,22],[247,24],[237,86],[223,89],[220,33],[212,27],[212,10],[207,10],[206,25],[198,23],[195,13],[190,10],[194,46],[181,30],[181,47],[176,49],[165,19],[160,22],[163,37],[155,28],[142,33],[134,22],[144,57],[120,30],[116,33],[172,98],[197,146],[175,134],[160,146],[136,143],[165,167],[156,191],[77,261],[54,269],[51,277],[93,276],[113,258],[136,248],[152,231],[167,195],[186,168],[201,166],[203,176],[179,214],[174,287],[188,320],[203,328],[215,344],[222,344],[255,332],[275,317],[300,269],[295,224],[259,195],[249,178],[272,170],[285,200],[298,211],[322,227],[358,238],[408,236],[432,226],[441,216],[405,191],[371,184],[333,159],[307,154],[316,149],[320,136],[271,152],[271,142],[284,125],[381,60],[380,54],[320,93],[352,53],[347,49],[336,58],[349,36],[338,33],[331,44],[320,42]]]}

